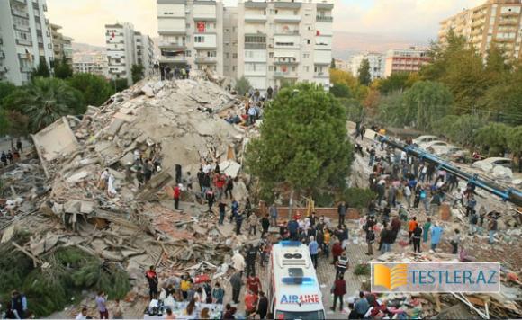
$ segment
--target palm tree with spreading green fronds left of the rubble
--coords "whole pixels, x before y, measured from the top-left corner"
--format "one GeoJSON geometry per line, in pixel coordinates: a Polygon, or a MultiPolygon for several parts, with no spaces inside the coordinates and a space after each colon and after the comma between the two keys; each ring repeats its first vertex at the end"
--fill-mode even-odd
{"type": "Polygon", "coordinates": [[[81,93],[57,78],[36,77],[25,89],[22,111],[29,116],[31,130],[43,129],[60,117],[76,114],[81,93]]]}

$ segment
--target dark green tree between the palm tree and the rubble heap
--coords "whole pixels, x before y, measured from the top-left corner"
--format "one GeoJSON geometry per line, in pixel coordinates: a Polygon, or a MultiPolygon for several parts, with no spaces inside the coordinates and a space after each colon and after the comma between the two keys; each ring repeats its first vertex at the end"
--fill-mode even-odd
{"type": "Polygon", "coordinates": [[[67,84],[83,94],[85,107],[87,105],[98,107],[114,94],[112,84],[103,76],[97,76],[94,74],[75,74],[67,79],[67,84]]]}

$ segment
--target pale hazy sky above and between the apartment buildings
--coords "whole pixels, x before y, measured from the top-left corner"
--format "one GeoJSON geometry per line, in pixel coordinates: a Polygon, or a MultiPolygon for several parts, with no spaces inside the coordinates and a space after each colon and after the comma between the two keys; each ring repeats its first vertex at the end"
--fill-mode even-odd
{"type": "MultiPolygon", "coordinates": [[[[225,0],[232,5],[236,0],[225,0]]],[[[485,0],[334,0],[334,30],[435,39],[438,22],[485,0]]],[[[131,22],[157,37],[156,0],[47,0],[49,21],[76,42],[104,45],[104,25],[131,22]]]]}

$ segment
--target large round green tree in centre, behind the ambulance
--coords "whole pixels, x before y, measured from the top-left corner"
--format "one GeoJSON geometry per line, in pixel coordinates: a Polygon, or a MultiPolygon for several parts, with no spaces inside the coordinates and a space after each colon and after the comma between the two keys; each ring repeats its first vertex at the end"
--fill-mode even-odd
{"type": "Polygon", "coordinates": [[[284,88],[265,109],[260,137],[247,146],[248,170],[266,185],[311,195],[344,189],[353,148],[345,109],[314,84],[284,88]]]}

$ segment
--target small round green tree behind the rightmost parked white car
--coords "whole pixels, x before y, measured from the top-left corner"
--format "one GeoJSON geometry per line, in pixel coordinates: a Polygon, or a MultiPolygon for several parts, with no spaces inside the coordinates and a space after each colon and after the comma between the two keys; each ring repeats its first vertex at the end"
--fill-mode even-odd
{"type": "Polygon", "coordinates": [[[489,156],[504,156],[508,147],[509,127],[490,123],[477,131],[476,142],[489,156]]]}

